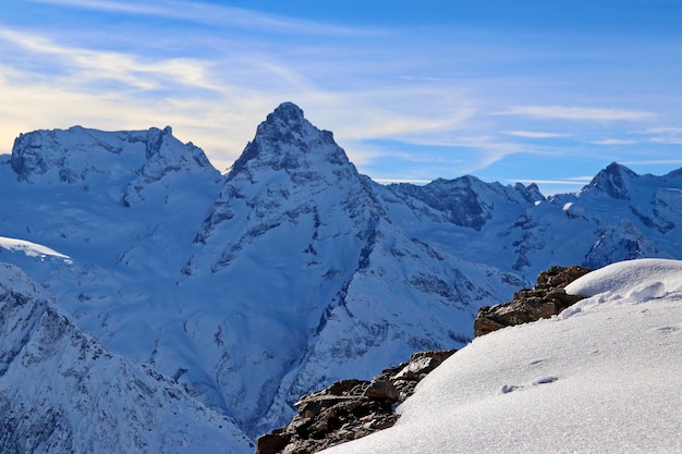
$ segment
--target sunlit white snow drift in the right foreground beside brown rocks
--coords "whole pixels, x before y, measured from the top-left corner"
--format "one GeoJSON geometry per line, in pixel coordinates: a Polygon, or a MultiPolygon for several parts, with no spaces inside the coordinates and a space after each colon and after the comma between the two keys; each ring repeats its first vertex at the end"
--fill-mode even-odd
{"type": "Polygon", "coordinates": [[[589,297],[474,340],[393,428],[325,453],[679,453],[682,261],[618,262],[567,291],[589,297]]]}

